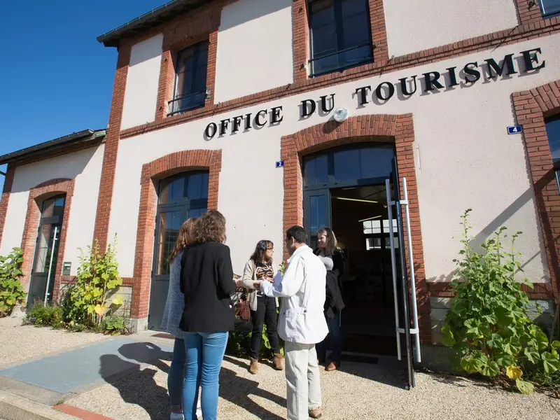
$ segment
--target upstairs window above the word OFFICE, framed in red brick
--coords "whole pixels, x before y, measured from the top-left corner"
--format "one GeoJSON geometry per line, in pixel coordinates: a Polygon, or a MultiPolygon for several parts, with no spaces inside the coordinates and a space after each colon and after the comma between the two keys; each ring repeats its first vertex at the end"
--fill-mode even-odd
{"type": "Polygon", "coordinates": [[[204,106],[208,67],[208,41],[197,43],[177,55],[175,90],[169,101],[169,114],[204,106]]]}

